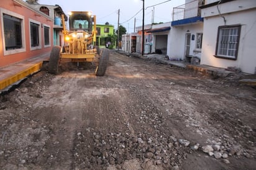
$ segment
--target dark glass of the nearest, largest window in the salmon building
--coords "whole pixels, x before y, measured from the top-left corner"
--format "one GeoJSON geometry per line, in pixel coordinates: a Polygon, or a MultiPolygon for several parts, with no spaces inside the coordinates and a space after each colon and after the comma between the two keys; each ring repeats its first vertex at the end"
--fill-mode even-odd
{"type": "Polygon", "coordinates": [[[3,14],[5,50],[22,48],[22,19],[3,14]]]}

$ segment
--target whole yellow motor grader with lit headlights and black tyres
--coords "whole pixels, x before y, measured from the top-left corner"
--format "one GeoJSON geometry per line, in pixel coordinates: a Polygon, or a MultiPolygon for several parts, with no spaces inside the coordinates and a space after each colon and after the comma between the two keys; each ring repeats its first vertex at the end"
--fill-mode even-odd
{"type": "Polygon", "coordinates": [[[48,72],[58,74],[62,62],[93,62],[96,65],[96,76],[104,76],[109,60],[109,50],[99,49],[96,42],[96,16],[91,12],[70,12],[69,30],[66,30],[62,15],[65,45],[54,46],[50,53],[48,72]]]}

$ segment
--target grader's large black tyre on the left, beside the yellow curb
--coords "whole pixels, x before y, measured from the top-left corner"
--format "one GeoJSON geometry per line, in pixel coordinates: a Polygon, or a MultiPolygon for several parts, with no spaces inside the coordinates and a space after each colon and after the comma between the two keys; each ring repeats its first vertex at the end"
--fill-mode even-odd
{"type": "Polygon", "coordinates": [[[60,61],[60,50],[61,50],[61,47],[54,46],[50,53],[48,72],[51,74],[58,74],[58,63],[60,61]]]}

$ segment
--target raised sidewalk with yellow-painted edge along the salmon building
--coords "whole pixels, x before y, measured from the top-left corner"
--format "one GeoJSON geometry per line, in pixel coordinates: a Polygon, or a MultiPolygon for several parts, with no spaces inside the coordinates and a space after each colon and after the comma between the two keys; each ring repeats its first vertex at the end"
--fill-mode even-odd
{"type": "Polygon", "coordinates": [[[21,81],[30,74],[40,71],[43,61],[48,60],[49,57],[50,53],[0,68],[0,93],[1,91],[7,91],[9,86],[21,81]]]}

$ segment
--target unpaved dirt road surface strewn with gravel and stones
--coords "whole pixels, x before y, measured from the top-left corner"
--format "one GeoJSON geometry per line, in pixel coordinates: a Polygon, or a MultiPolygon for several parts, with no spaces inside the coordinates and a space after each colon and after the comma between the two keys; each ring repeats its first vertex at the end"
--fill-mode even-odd
{"type": "Polygon", "coordinates": [[[0,169],[255,169],[256,90],[111,51],[0,103],[0,169]]]}

